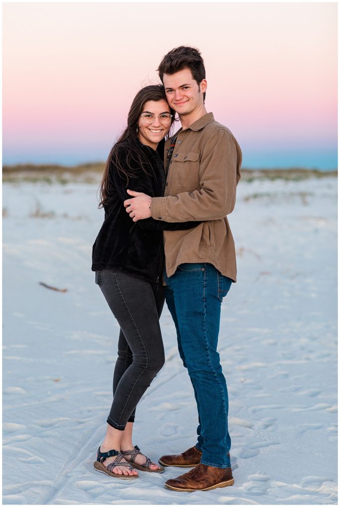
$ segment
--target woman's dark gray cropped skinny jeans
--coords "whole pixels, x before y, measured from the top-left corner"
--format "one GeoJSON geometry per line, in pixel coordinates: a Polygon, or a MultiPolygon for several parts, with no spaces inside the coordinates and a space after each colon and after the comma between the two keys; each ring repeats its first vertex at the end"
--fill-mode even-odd
{"type": "Polygon", "coordinates": [[[110,426],[124,430],[135,408],[164,365],[159,317],[164,305],[161,283],[150,283],[117,269],[96,271],[95,282],[120,325],[113,375],[110,426]]]}

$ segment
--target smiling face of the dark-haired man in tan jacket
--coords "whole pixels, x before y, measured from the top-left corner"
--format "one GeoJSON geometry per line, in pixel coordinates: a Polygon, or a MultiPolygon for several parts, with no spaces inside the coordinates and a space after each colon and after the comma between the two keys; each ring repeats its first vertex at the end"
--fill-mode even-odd
{"type": "Polygon", "coordinates": [[[203,79],[198,85],[189,68],[184,68],[176,74],[164,74],[163,85],[169,105],[180,116],[190,115],[203,106],[203,93],[207,89],[207,81],[203,79]]]}

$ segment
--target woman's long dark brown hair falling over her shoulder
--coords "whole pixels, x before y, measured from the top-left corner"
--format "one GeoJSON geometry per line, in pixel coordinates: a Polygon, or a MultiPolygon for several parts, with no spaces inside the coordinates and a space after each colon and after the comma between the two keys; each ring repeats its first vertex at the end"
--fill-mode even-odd
{"type": "MultiPolygon", "coordinates": [[[[118,172],[127,178],[127,182],[129,177],[134,177],[132,165],[133,162],[134,165],[135,162],[137,162],[141,169],[145,171],[144,165],[146,162],[148,162],[148,159],[140,148],[137,134],[138,120],[141,113],[143,112],[144,104],[148,100],[154,100],[155,102],[158,102],[159,100],[166,101],[164,87],[162,85],[146,86],[142,88],[134,97],[129,114],[127,116],[127,127],[112,147],[105,164],[104,174],[103,178],[101,179],[99,190],[99,208],[102,208],[109,198],[109,174],[113,160],[115,161],[115,166],[118,172]],[[126,141],[126,139],[130,140],[130,147],[124,146],[124,149],[128,150],[128,152],[126,153],[126,166],[122,167],[119,162],[118,149],[121,144],[126,141]]],[[[175,120],[175,111],[172,108],[170,108],[170,111],[173,115],[171,121],[171,124],[173,125],[175,120]]]]}

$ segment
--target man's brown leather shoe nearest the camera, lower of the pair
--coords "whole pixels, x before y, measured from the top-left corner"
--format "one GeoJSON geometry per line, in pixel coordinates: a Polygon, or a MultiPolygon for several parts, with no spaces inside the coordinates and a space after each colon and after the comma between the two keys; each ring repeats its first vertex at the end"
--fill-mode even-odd
{"type": "Polygon", "coordinates": [[[216,468],[199,463],[177,479],[169,479],[164,486],[174,491],[208,491],[232,486],[233,483],[231,468],[216,468]]]}

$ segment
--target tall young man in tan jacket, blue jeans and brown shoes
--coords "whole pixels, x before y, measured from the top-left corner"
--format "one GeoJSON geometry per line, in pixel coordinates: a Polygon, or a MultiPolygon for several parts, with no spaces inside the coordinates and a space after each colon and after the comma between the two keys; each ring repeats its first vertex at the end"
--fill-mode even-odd
{"type": "MultiPolygon", "coordinates": [[[[188,369],[198,411],[197,443],[165,466],[194,466],[169,479],[175,491],[231,486],[228,393],[217,352],[220,307],[236,281],[234,241],[226,215],[234,208],[242,153],[234,136],[205,108],[207,81],[199,51],[181,46],[158,68],[168,103],[182,128],[165,144],[164,197],[129,192],[132,220],[201,221],[194,229],[164,231],[166,303],[188,369]]],[[[152,130],[150,130],[152,132],[152,130]]]]}

